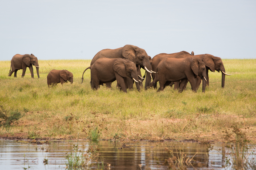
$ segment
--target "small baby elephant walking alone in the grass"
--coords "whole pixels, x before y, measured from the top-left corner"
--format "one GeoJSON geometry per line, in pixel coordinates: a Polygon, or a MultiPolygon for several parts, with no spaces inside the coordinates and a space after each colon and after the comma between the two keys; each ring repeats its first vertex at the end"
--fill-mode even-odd
{"type": "Polygon", "coordinates": [[[71,84],[73,83],[73,74],[67,70],[51,70],[47,75],[48,87],[51,84],[56,85],[57,83],[66,83],[67,80],[71,82],[71,84]]]}

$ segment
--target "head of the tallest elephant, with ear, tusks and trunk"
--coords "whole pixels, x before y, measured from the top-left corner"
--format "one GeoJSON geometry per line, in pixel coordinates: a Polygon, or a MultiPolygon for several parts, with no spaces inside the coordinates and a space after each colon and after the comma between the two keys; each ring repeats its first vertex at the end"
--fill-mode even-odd
{"type": "Polygon", "coordinates": [[[141,68],[147,71],[146,75],[146,82],[145,82],[145,90],[150,86],[151,76],[152,73],[151,65],[150,65],[150,58],[147,55],[146,51],[142,48],[139,48],[134,45],[125,45],[122,48],[122,55],[124,58],[127,58],[131,62],[134,62],[135,65],[139,65],[141,68]]]}

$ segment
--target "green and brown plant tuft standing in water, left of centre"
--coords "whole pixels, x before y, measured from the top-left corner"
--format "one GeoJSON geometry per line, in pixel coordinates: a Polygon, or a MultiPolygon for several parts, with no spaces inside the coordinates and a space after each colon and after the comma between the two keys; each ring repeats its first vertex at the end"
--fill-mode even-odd
{"type": "Polygon", "coordinates": [[[67,167],[90,167],[92,162],[99,156],[98,150],[97,146],[90,146],[87,151],[82,152],[81,150],[78,151],[78,144],[73,145],[71,154],[66,156],[67,167]]]}

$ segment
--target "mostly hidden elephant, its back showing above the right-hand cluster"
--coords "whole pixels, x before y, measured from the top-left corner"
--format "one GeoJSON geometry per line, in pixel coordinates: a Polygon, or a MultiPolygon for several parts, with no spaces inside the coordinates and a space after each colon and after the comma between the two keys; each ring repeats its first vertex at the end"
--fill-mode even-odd
{"type": "MultiPolygon", "coordinates": [[[[155,55],[153,58],[152,58],[152,77],[153,77],[153,80],[155,79],[155,72],[157,70],[157,65],[159,64],[159,62],[166,58],[166,57],[179,57],[181,55],[184,55],[184,54],[189,54],[190,56],[194,56],[194,52],[192,51],[191,54],[186,52],[186,51],[181,51],[181,52],[178,52],[178,53],[172,53],[172,54],[167,54],[167,53],[161,53],[161,54],[157,54],[155,55]]],[[[153,86],[153,82],[151,82],[151,87],[153,86]]],[[[154,85],[154,88],[157,88],[157,84],[154,85]]]]}

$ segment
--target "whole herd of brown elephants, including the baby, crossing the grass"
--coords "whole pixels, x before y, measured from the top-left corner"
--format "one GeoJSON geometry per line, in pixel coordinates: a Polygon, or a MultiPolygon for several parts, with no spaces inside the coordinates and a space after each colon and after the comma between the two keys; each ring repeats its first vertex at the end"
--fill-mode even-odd
{"type": "MultiPolygon", "coordinates": [[[[17,71],[22,69],[22,77],[24,77],[26,68],[29,67],[31,77],[34,78],[33,65],[36,66],[39,78],[38,68],[40,67],[37,57],[33,54],[16,54],[11,60],[9,76],[14,72],[14,77],[17,77],[17,71]]],[[[179,92],[182,92],[186,88],[187,82],[190,82],[191,89],[196,92],[202,82],[202,91],[205,92],[206,85],[209,86],[209,70],[222,72],[222,88],[225,84],[225,75],[231,75],[226,74],[221,58],[210,54],[194,55],[193,51],[191,54],[181,51],[172,54],[157,54],[151,59],[144,49],[134,45],[99,51],[93,57],[90,67],[87,67],[85,71],[87,69],[91,70],[92,89],[97,90],[103,83],[106,84],[106,87],[111,88],[111,83],[117,80],[117,87],[123,92],[127,92],[127,88],[132,89],[134,82],[137,90],[140,91],[144,79],[146,79],[145,90],[150,87],[157,88],[156,84],[159,82],[158,91],[174,84],[174,89],[179,89],[179,92]],[[141,68],[146,70],[143,78],[141,68]],[[151,79],[153,79],[152,82],[151,79]]],[[[73,83],[73,74],[67,70],[51,70],[47,75],[48,87],[51,84],[63,84],[67,81],[73,83]]]]}

